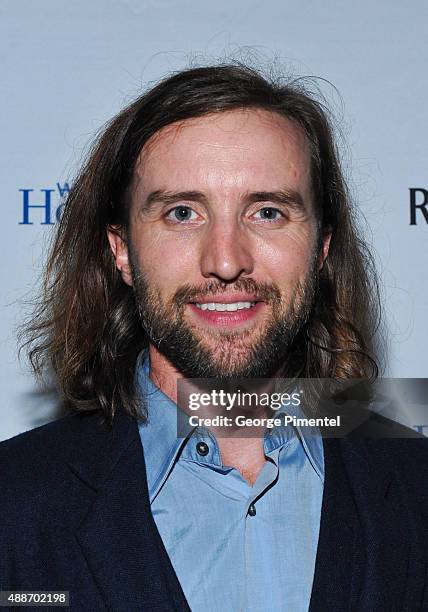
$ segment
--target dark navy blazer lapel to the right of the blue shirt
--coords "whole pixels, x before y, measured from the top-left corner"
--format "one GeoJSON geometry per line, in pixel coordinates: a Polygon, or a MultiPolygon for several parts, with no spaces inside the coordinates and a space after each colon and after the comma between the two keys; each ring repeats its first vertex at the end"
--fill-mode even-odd
{"type": "Polygon", "coordinates": [[[310,612],[411,609],[405,598],[413,536],[390,465],[393,449],[385,444],[324,439],[325,486],[310,612]]]}

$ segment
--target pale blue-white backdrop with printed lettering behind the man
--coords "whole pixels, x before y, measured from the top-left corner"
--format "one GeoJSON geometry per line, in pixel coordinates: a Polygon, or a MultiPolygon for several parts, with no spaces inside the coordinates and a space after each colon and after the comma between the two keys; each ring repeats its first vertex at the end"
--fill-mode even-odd
{"type": "MultiPolygon", "coordinates": [[[[427,377],[427,219],[410,189],[428,189],[428,39],[424,0],[1,0],[0,439],[52,418],[16,357],[22,300],[43,268],[53,225],[25,197],[51,197],[95,131],[150,82],[195,57],[279,58],[317,75],[342,116],[346,168],[383,282],[387,374],[427,377]],[[239,50],[239,53],[237,53],[239,50]],[[33,189],[34,191],[22,191],[33,189]],[[20,191],[21,190],[21,191],[20,191]],[[41,191],[45,190],[45,191],[41,191]],[[51,192],[46,190],[52,190],[51,192]]],[[[422,191],[415,192],[423,202],[422,191]]]]}

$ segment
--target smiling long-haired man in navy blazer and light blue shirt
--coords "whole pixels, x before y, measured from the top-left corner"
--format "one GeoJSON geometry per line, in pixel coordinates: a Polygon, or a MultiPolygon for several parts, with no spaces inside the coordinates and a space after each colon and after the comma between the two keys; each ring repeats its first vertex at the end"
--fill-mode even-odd
{"type": "Polygon", "coordinates": [[[0,446],[1,589],[424,609],[425,440],[177,436],[183,377],[371,378],[376,324],[322,106],[240,66],[158,84],[100,137],[50,254],[30,357],[75,413],[0,446]]]}

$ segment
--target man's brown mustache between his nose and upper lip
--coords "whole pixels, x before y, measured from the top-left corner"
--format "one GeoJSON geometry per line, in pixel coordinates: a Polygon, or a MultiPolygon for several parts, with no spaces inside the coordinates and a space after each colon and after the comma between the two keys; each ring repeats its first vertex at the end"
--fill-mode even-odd
{"type": "Polygon", "coordinates": [[[257,295],[257,297],[270,304],[281,302],[281,292],[274,284],[258,283],[252,278],[241,278],[234,283],[222,283],[221,281],[210,281],[204,285],[183,285],[174,293],[172,303],[178,307],[183,307],[189,302],[195,301],[197,297],[207,297],[210,295],[221,295],[228,292],[245,292],[257,295]]]}

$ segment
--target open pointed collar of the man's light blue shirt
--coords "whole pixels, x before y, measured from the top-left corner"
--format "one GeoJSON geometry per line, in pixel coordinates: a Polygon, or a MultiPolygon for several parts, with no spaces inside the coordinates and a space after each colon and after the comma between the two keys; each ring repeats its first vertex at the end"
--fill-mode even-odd
{"type": "MultiPolygon", "coordinates": [[[[211,439],[210,453],[205,457],[198,456],[198,462],[221,466],[220,453],[215,437],[208,430],[191,428],[185,437],[177,437],[177,416],[180,408],[165,395],[150,379],[150,360],[148,352],[144,351],[138,360],[137,384],[143,398],[147,420],[139,424],[140,439],[144,448],[144,459],[147,472],[147,483],[150,502],[153,502],[162,485],[168,478],[175,461],[187,445],[190,437],[197,440],[211,439]]],[[[276,414],[287,412],[293,416],[304,416],[299,407],[294,407],[290,413],[289,408],[281,408],[276,414]]],[[[268,430],[264,437],[266,454],[273,453],[280,446],[298,436],[305,454],[319,478],[324,481],[324,455],[322,439],[316,428],[300,428],[291,425],[276,427],[268,430]]],[[[192,445],[193,447],[194,445],[192,445]]],[[[192,453],[192,449],[188,449],[192,453]]],[[[225,470],[226,472],[229,469],[225,470]]]]}

